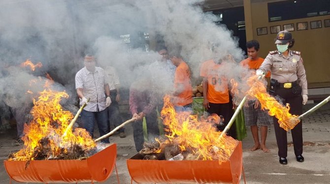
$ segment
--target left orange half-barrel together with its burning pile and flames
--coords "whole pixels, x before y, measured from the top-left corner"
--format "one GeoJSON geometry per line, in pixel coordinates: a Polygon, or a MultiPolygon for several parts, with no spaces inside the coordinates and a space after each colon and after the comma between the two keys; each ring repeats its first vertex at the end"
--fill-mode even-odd
{"type": "Polygon", "coordinates": [[[66,92],[45,89],[33,100],[33,120],[24,128],[24,147],[4,161],[10,181],[104,182],[112,173],[116,144],[100,147],[85,129],[72,131],[85,105],[73,118],[60,105],[62,97],[68,97],[66,92]]]}

